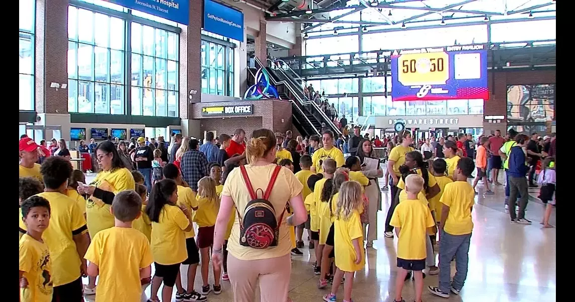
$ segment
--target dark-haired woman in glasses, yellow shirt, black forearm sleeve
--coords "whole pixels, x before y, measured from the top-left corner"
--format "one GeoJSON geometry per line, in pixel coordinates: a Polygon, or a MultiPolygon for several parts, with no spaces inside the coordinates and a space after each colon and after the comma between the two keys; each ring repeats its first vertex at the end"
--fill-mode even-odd
{"type": "MultiPolygon", "coordinates": [[[[90,238],[94,238],[99,231],[114,226],[114,216],[110,213],[114,196],[123,190],[136,189],[134,177],[124,167],[114,143],[108,140],[99,143],[95,152],[101,171],[89,186],[78,186],[78,193],[90,195],[86,202],[86,222],[90,238]]],[[[93,295],[95,286],[96,278],[89,277],[84,288],[86,295],[93,295]]]]}

